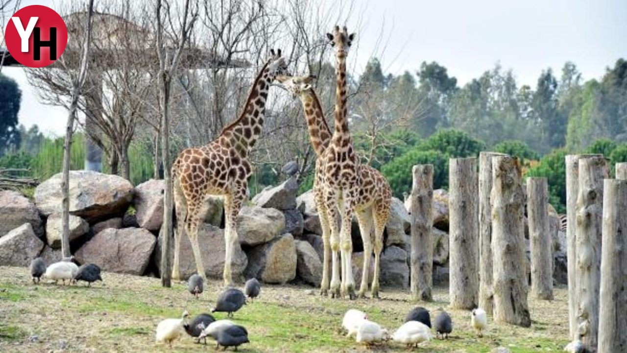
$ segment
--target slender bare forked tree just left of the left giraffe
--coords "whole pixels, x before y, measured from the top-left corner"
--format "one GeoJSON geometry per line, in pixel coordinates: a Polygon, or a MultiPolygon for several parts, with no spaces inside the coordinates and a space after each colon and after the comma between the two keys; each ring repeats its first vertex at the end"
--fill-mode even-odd
{"type": "Polygon", "coordinates": [[[169,104],[172,87],[172,75],[176,73],[181,60],[181,53],[185,49],[189,34],[198,18],[198,3],[185,0],[183,8],[172,9],[164,0],[157,0],[155,4],[157,36],[157,57],[159,58],[159,106],[161,109],[161,153],[164,166],[164,217],[161,226],[163,244],[161,247],[161,285],[171,286],[171,238],[172,238],[172,177],[170,158],[169,134],[169,104]],[[179,23],[175,16],[180,16],[179,23]]]}

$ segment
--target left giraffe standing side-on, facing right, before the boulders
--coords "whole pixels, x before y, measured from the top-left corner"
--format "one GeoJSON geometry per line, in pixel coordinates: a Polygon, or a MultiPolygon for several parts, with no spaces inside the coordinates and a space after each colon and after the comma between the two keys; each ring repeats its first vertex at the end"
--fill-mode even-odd
{"type": "Polygon", "coordinates": [[[277,75],[287,72],[287,65],[281,56],[270,51],[271,58],[261,68],[248,95],[244,111],[240,117],[223,129],[213,142],[200,148],[184,149],[172,165],[174,180],[174,203],[179,221],[176,232],[174,266],[172,278],[180,278],[179,256],[183,230],[192,244],[196,269],[205,278],[205,270],[198,246],[198,225],[204,199],[207,195],[224,195],[224,284],[233,284],[231,259],[234,246],[238,242],[235,228],[237,215],[248,195],[248,178],[251,165],[248,161],[250,149],[254,146],[263,126],[268,89],[277,75]]]}

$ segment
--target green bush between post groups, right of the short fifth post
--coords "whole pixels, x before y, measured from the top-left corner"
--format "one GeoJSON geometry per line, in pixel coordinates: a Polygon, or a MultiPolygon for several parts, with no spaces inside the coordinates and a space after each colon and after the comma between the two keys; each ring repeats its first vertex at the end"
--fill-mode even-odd
{"type": "Polygon", "coordinates": [[[555,149],[527,170],[525,177],[545,176],[549,182],[549,202],[559,214],[566,213],[566,150],[555,149]]]}

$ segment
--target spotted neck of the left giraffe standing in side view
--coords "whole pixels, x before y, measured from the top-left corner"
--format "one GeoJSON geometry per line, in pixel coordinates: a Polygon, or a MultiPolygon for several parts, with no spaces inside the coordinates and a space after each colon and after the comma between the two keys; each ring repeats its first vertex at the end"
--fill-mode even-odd
{"type": "Polygon", "coordinates": [[[218,138],[221,143],[235,149],[242,156],[248,155],[261,134],[268,90],[275,77],[276,74],[270,73],[266,63],[253,83],[244,111],[236,121],[222,130],[218,138]]]}

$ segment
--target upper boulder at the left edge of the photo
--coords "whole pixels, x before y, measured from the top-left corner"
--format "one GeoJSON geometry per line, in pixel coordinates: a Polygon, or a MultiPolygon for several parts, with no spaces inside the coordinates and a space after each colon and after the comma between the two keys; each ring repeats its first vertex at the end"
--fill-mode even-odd
{"type": "Polygon", "coordinates": [[[43,235],[35,204],[19,192],[0,190],[0,237],[24,223],[30,223],[35,234],[43,235]]]}

